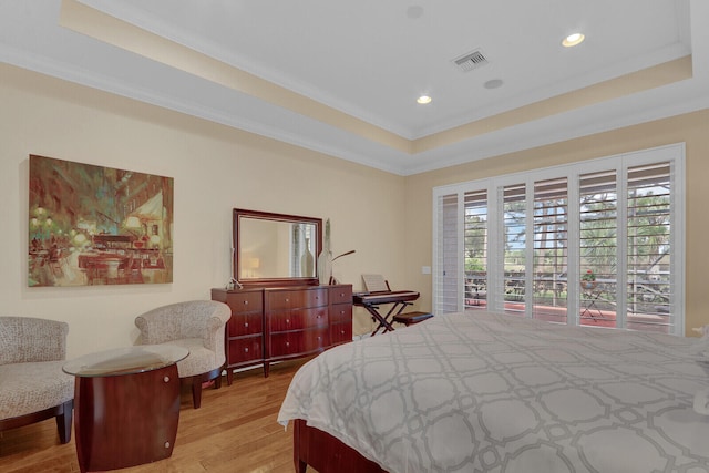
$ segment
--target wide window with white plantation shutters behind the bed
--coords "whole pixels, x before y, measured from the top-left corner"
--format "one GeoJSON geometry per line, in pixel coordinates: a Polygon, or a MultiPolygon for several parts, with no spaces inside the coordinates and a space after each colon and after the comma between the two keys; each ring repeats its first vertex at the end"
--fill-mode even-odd
{"type": "Polygon", "coordinates": [[[434,311],[684,333],[684,145],[434,189],[434,311]]]}

